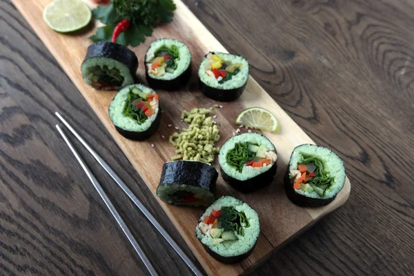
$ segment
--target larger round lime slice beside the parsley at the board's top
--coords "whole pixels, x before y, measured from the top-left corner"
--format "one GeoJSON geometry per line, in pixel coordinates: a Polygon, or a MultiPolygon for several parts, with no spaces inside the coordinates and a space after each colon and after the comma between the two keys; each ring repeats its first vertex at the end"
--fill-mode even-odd
{"type": "Polygon", "coordinates": [[[74,32],[90,22],[92,12],[81,0],[55,0],[43,10],[43,20],[57,32],[74,32]]]}

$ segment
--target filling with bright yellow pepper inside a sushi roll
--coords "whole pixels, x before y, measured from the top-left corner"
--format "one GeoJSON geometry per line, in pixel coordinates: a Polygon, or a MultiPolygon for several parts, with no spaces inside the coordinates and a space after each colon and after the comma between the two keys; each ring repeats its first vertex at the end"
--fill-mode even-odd
{"type": "Polygon", "coordinates": [[[219,83],[224,83],[240,72],[243,63],[233,63],[230,60],[224,60],[210,52],[207,55],[207,61],[204,63],[206,74],[209,77],[215,77],[219,83]]]}

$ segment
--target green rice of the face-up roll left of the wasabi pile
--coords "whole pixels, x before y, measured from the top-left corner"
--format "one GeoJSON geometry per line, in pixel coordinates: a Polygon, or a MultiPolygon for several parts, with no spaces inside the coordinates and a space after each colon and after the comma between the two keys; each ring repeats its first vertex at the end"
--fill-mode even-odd
{"type": "Polygon", "coordinates": [[[131,86],[126,86],[117,92],[115,98],[110,102],[109,105],[109,117],[112,120],[113,124],[118,128],[127,131],[142,132],[150,128],[153,121],[158,115],[159,108],[155,110],[155,113],[148,117],[146,121],[142,124],[138,124],[135,119],[131,119],[124,115],[124,107],[128,104],[128,95],[131,91],[131,88],[138,88],[146,94],[155,94],[155,91],[151,88],[148,88],[142,84],[134,84],[131,86]]]}

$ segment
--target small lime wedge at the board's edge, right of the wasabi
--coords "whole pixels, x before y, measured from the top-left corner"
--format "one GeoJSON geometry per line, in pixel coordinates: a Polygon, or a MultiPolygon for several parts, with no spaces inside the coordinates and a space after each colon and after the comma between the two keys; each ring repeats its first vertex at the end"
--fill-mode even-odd
{"type": "Polygon", "coordinates": [[[250,126],[262,131],[277,132],[279,123],[275,115],[264,108],[247,108],[237,115],[236,124],[250,126]]]}

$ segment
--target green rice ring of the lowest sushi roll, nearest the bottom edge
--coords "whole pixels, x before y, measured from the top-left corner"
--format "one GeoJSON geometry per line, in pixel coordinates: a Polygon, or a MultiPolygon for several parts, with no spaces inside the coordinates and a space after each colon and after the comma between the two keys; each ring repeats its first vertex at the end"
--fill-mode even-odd
{"type": "MultiPolygon", "coordinates": [[[[234,231],[237,241],[231,245],[229,248],[226,248],[224,244],[214,244],[213,237],[210,235],[203,235],[199,226],[197,224],[195,228],[195,235],[200,240],[200,242],[208,246],[213,252],[223,256],[223,257],[235,257],[247,253],[257,242],[257,238],[260,233],[260,224],[259,224],[259,215],[256,211],[253,210],[248,204],[234,197],[224,196],[217,199],[212,205],[210,205],[206,212],[200,217],[200,221],[204,217],[210,215],[215,210],[221,210],[222,207],[233,207],[237,212],[243,213],[248,221],[248,226],[242,227],[243,235],[239,235],[237,231],[234,231]]],[[[240,233],[240,231],[239,231],[240,233]]]]}

